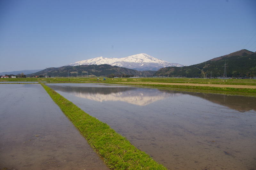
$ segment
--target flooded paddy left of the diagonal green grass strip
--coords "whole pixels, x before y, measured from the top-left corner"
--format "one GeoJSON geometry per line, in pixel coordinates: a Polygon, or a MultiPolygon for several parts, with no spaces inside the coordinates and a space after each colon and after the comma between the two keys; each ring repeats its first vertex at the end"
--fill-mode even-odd
{"type": "Polygon", "coordinates": [[[40,84],[0,85],[0,169],[108,169],[40,84]]]}

